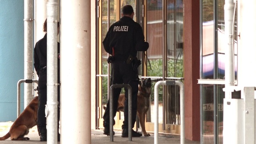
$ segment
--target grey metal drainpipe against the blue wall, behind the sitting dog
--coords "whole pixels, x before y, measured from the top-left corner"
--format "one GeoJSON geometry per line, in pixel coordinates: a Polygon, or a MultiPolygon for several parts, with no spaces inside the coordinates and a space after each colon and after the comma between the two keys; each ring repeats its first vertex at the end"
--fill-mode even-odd
{"type": "MultiPolygon", "coordinates": [[[[33,79],[33,0],[24,0],[24,79],[33,79]]],[[[24,83],[24,109],[32,100],[32,83],[24,83]]]]}

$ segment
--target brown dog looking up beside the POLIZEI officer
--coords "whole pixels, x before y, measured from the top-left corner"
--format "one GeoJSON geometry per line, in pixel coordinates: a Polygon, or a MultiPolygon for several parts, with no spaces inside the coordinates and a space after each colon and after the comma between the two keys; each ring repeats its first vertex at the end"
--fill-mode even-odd
{"type": "MultiPolygon", "coordinates": [[[[144,136],[150,136],[146,132],[145,128],[145,120],[146,120],[146,113],[150,107],[150,94],[151,94],[151,79],[146,78],[142,80],[139,84],[139,90],[137,94],[137,116],[140,120],[140,126],[142,128],[142,132],[144,136]]],[[[124,101],[125,96],[124,94],[120,94],[118,98],[118,106],[117,111],[124,112],[124,101]]]]}

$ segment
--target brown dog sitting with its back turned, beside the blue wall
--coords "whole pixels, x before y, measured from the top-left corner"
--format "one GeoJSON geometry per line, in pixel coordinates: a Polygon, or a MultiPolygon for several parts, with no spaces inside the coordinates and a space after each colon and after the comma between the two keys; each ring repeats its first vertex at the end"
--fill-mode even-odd
{"type": "Polygon", "coordinates": [[[36,96],[18,116],[12,124],[9,132],[0,138],[6,140],[11,137],[11,140],[29,140],[25,135],[28,134],[29,129],[37,124],[37,110],[38,110],[38,96],[36,96]]]}

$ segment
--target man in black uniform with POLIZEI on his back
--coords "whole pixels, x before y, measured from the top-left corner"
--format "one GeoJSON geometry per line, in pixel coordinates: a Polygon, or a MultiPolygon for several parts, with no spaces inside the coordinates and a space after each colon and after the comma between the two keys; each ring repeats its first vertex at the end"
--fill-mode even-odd
{"type": "MultiPolygon", "coordinates": [[[[144,34],[140,24],[133,20],[134,11],[132,6],[126,5],[122,8],[122,18],[110,26],[103,41],[104,49],[111,54],[108,62],[111,62],[111,84],[129,84],[132,87],[132,128],[136,121],[137,93],[138,93],[138,65],[140,60],[136,58],[137,51],[148,50],[148,42],[144,40],[144,34]]],[[[114,116],[116,116],[118,97],[121,88],[115,88],[114,116]]],[[[124,122],[122,125],[122,137],[128,137],[128,90],[125,88],[124,122]]],[[[109,126],[109,100],[104,113],[104,133],[110,134],[109,126]]],[[[114,121],[115,123],[115,121],[114,121]]],[[[132,130],[133,137],[142,134],[132,130]]]]}

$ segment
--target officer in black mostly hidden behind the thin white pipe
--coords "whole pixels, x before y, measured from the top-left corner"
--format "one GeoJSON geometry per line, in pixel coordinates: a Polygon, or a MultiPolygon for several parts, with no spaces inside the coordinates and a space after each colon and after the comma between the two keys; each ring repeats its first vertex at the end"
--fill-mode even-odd
{"type": "MultiPolygon", "coordinates": [[[[58,34],[60,25],[58,22],[58,34]]],[[[47,32],[47,19],[44,21],[44,32],[47,32]]],[[[60,83],[60,43],[58,42],[58,83],[60,83]]],[[[45,105],[47,102],[47,33],[44,38],[36,43],[34,48],[34,67],[38,75],[38,131],[40,141],[47,141],[45,105]]],[[[58,102],[60,102],[60,86],[58,85],[58,102]]],[[[58,122],[60,120],[60,108],[58,106],[58,122]]],[[[58,123],[59,126],[59,123],[58,123]]],[[[58,132],[58,141],[60,134],[58,132]]]]}

